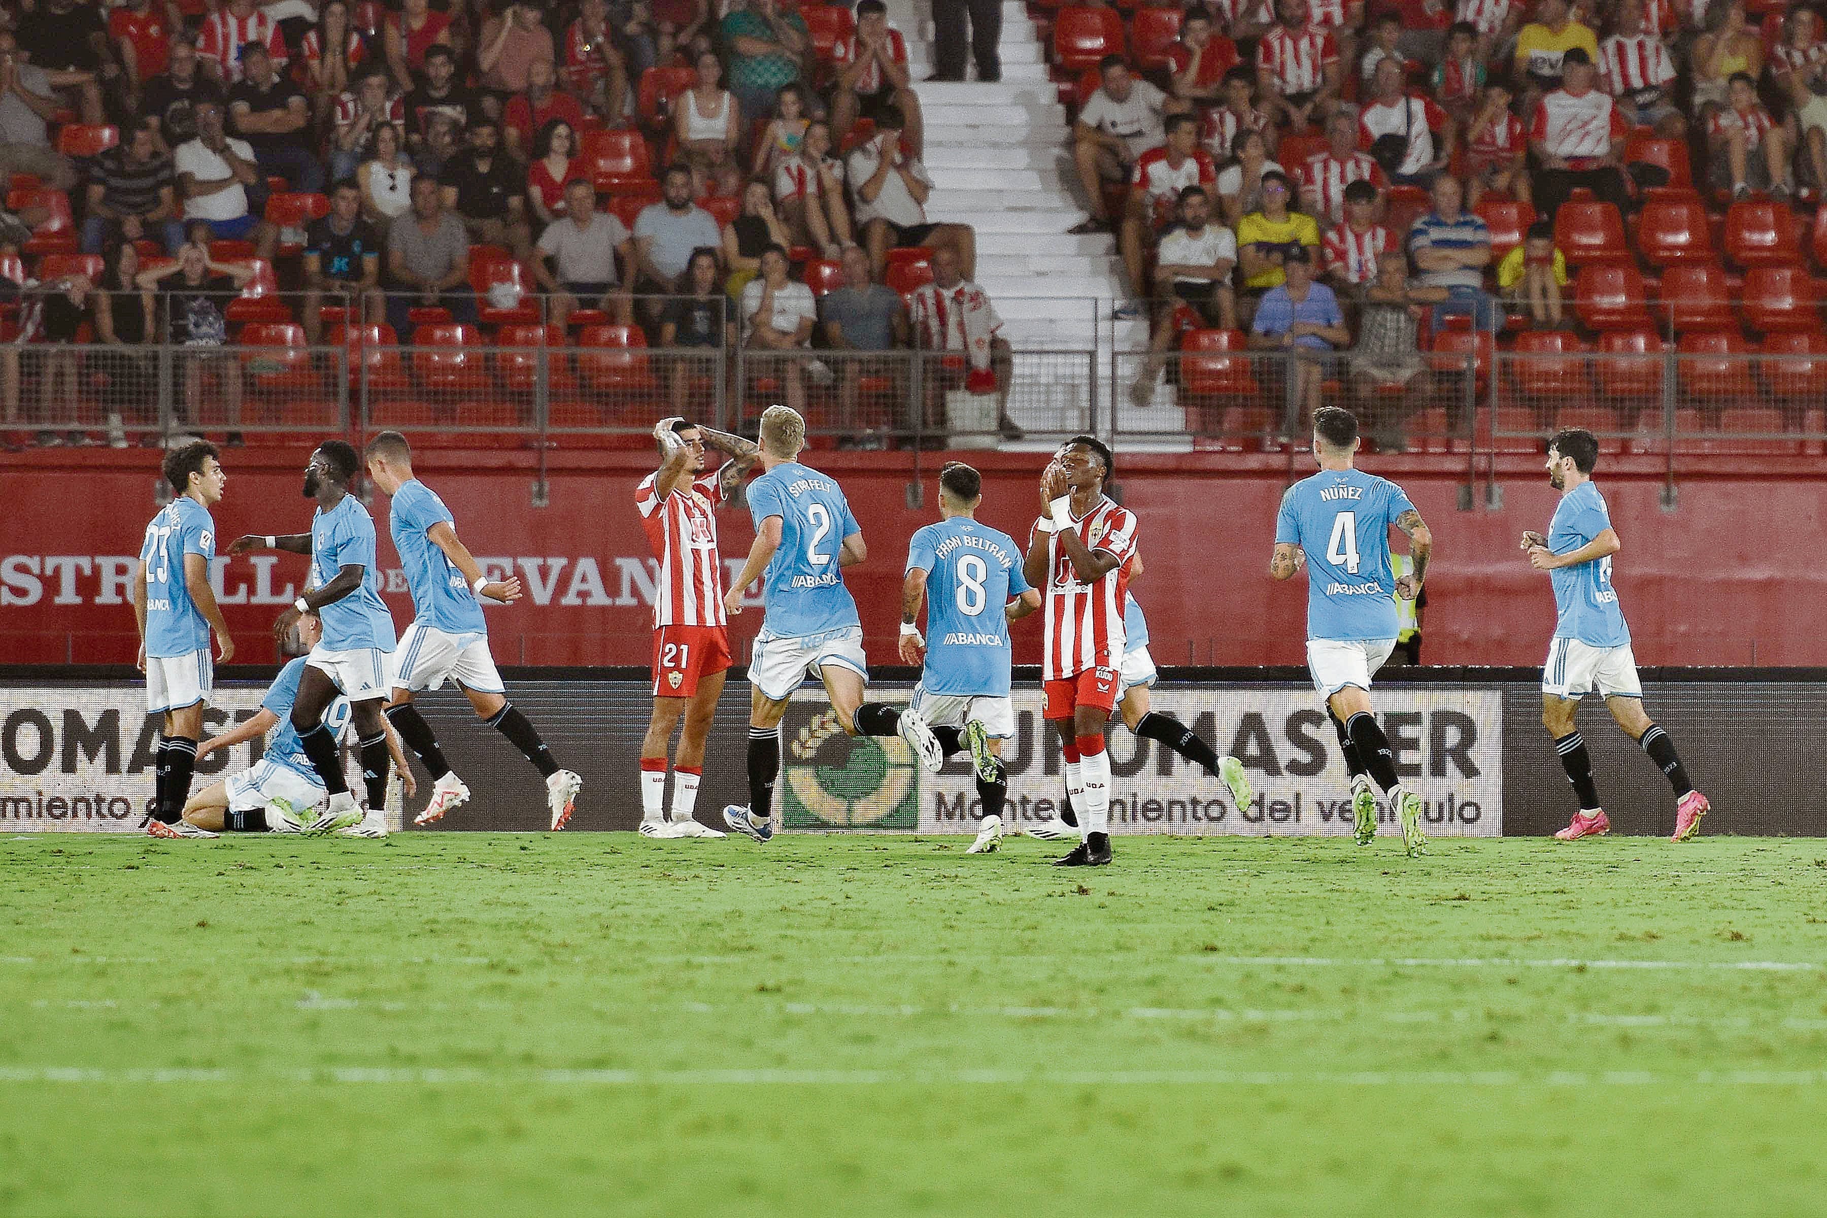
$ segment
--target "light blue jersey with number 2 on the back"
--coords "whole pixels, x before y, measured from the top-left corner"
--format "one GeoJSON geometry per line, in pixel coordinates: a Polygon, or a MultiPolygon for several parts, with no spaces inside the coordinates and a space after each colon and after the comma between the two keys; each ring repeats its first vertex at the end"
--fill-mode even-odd
{"type": "Polygon", "coordinates": [[[775,639],[808,639],[862,626],[844,586],[837,551],[862,531],[837,482],[798,462],[775,466],[749,484],[755,530],[780,517],[780,548],[762,577],[762,630],[775,639]]]}

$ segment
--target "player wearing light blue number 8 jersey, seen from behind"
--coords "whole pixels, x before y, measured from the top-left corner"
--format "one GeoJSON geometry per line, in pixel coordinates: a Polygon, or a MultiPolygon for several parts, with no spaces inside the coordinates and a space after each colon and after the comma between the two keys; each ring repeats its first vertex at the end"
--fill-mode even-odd
{"type": "Polygon", "coordinates": [[[939,471],[939,524],[914,533],[901,584],[901,659],[924,665],[914,712],[950,756],[970,751],[977,771],[981,822],[966,853],[988,855],[1003,840],[1009,769],[1003,741],[1016,732],[1009,701],[1009,623],[1040,608],[1040,592],[1021,572],[1021,550],[1007,533],[977,524],[983,475],[961,462],[939,471]],[[919,608],[926,601],[926,634],[919,608]]]}

